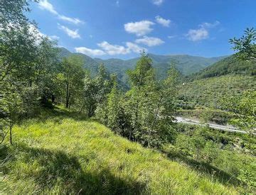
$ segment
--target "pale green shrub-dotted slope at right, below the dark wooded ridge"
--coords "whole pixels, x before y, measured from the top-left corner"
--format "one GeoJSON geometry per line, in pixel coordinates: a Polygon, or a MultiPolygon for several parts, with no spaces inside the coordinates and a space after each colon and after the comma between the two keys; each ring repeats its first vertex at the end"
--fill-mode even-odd
{"type": "Polygon", "coordinates": [[[223,96],[239,96],[248,89],[256,90],[255,76],[223,75],[196,79],[179,86],[176,106],[185,109],[219,108],[223,96]]]}

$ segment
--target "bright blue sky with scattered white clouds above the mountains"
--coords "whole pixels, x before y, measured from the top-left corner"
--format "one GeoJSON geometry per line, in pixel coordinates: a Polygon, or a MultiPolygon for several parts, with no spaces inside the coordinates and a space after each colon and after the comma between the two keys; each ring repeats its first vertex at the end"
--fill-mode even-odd
{"type": "Polygon", "coordinates": [[[233,53],[229,38],[256,26],[255,0],[41,0],[28,17],[71,52],[103,59],[147,52],[233,53]]]}

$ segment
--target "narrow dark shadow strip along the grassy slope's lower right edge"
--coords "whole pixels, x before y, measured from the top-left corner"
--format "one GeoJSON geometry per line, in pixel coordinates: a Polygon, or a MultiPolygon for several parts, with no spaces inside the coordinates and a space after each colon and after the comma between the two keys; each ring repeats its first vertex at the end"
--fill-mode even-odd
{"type": "Polygon", "coordinates": [[[221,182],[222,184],[232,184],[234,186],[238,186],[241,184],[240,180],[235,178],[233,175],[224,172],[221,169],[218,169],[217,167],[214,167],[213,165],[209,165],[206,162],[198,162],[196,160],[193,160],[189,157],[186,157],[186,155],[182,155],[181,153],[171,150],[171,151],[164,151],[162,150],[164,154],[169,157],[171,160],[175,160],[178,162],[184,162],[186,165],[191,167],[192,169],[196,170],[196,172],[201,172],[203,174],[207,174],[208,176],[212,177],[213,179],[217,179],[218,182],[221,182]]]}

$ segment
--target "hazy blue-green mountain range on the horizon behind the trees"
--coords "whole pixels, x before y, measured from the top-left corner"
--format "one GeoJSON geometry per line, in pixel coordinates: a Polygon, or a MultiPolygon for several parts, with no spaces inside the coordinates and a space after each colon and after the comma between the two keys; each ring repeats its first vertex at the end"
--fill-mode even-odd
{"type": "MultiPolygon", "coordinates": [[[[80,55],[85,60],[85,68],[90,69],[90,72],[94,74],[97,72],[97,67],[100,63],[103,63],[110,73],[117,74],[117,78],[123,83],[127,84],[127,69],[135,67],[139,57],[132,58],[129,60],[121,60],[111,58],[108,60],[102,60],[100,58],[92,58],[82,53],[72,53],[65,48],[60,48],[60,57],[67,57],[68,55],[80,55]]],[[[176,68],[184,75],[193,74],[200,71],[201,69],[213,65],[224,59],[222,57],[198,57],[191,55],[154,55],[149,54],[153,61],[153,67],[156,69],[156,77],[164,79],[167,74],[167,70],[171,66],[171,62],[176,62],[176,68]]]]}

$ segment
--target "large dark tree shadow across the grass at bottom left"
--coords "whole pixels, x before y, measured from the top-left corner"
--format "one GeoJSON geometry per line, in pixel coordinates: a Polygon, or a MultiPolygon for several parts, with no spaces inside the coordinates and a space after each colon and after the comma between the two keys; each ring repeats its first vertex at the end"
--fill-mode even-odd
{"type": "MultiPolygon", "coordinates": [[[[63,151],[53,152],[18,145],[17,152],[19,157],[16,163],[21,165],[24,163],[28,166],[36,163],[36,170],[31,170],[32,172],[29,173],[21,172],[22,177],[18,176],[18,179],[26,179],[26,177],[33,179],[40,193],[58,186],[60,194],[141,194],[146,187],[146,184],[129,177],[124,180],[100,165],[98,165],[99,169],[95,167],[86,171],[86,164],[90,159],[83,162],[84,168],[82,168],[77,157],[63,151]]],[[[15,155],[11,161],[16,161],[15,155]]],[[[19,171],[14,170],[14,172],[19,171]]],[[[9,172],[12,172],[11,168],[4,169],[4,174],[8,175],[9,172]]]]}

